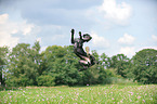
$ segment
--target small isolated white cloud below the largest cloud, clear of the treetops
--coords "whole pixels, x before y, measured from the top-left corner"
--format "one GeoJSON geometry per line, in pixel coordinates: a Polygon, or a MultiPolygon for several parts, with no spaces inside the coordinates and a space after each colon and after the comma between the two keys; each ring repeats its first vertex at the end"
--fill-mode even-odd
{"type": "Polygon", "coordinates": [[[135,40],[134,37],[132,37],[131,35],[125,34],[123,37],[118,39],[118,42],[126,43],[126,44],[132,44],[134,40],[135,40]]]}

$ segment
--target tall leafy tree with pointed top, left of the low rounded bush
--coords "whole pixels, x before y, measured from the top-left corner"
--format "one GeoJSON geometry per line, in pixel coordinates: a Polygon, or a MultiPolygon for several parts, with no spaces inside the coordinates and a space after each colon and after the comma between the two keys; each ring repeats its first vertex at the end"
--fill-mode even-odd
{"type": "Polygon", "coordinates": [[[32,86],[37,84],[40,46],[35,42],[30,44],[18,43],[9,55],[9,72],[6,83],[9,86],[32,86]],[[13,82],[13,84],[11,84],[13,82]]]}

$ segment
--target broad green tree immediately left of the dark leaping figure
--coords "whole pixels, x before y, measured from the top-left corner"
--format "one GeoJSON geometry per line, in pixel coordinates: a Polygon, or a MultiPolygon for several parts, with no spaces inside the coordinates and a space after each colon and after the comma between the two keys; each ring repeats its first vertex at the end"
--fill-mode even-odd
{"type": "Polygon", "coordinates": [[[48,47],[43,52],[43,63],[47,65],[42,70],[54,77],[55,84],[74,86],[79,79],[77,61],[71,47],[48,47]]]}

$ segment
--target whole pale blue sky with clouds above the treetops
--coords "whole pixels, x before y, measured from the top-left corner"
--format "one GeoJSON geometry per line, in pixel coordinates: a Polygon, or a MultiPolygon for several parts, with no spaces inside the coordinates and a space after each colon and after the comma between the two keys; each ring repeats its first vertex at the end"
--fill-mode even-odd
{"type": "Polygon", "coordinates": [[[0,0],[0,47],[70,46],[71,28],[100,55],[157,50],[157,0],[0,0]]]}

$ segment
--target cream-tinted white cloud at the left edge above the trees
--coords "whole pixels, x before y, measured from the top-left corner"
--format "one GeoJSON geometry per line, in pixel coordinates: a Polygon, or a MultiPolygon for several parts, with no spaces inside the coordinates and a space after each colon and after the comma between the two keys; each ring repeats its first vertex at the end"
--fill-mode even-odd
{"type": "Polygon", "coordinates": [[[26,21],[13,22],[9,14],[0,15],[0,47],[15,47],[19,42],[19,37],[13,37],[14,34],[28,35],[34,27],[32,24],[27,24],[26,21]]]}

